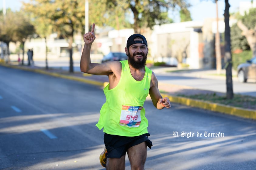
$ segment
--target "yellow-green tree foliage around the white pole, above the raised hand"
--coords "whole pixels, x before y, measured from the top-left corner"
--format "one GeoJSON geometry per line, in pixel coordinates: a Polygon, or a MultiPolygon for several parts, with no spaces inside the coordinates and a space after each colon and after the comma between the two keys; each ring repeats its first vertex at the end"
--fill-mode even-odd
{"type": "MultiPolygon", "coordinates": [[[[89,25],[105,24],[106,0],[89,0],[89,25]],[[102,5],[103,4],[103,5],[102,5]]],[[[53,31],[59,37],[69,38],[75,33],[85,32],[85,1],[75,0],[30,0],[23,3],[24,11],[30,15],[41,37],[53,31]]]]}

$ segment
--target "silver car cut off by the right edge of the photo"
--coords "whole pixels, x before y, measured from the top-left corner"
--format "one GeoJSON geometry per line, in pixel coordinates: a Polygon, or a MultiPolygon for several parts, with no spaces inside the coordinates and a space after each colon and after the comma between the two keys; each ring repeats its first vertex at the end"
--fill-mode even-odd
{"type": "Polygon", "coordinates": [[[247,79],[256,80],[256,56],[238,65],[237,72],[239,82],[247,82],[247,79]]]}

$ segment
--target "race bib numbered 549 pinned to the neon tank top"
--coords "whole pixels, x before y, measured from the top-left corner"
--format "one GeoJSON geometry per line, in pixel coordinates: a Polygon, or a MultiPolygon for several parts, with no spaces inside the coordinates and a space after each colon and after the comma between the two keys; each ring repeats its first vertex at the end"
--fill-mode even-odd
{"type": "Polygon", "coordinates": [[[136,128],[140,126],[141,106],[122,106],[121,117],[119,125],[136,128]]]}

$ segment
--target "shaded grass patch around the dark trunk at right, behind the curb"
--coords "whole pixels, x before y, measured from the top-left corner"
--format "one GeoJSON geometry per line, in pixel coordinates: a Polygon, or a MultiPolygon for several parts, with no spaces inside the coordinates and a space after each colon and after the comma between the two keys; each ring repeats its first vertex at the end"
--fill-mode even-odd
{"type": "Polygon", "coordinates": [[[217,95],[216,93],[211,94],[196,94],[196,95],[184,95],[178,94],[178,96],[209,101],[213,103],[219,103],[223,105],[230,105],[240,108],[256,109],[256,97],[234,94],[233,99],[227,99],[226,96],[217,95]]]}

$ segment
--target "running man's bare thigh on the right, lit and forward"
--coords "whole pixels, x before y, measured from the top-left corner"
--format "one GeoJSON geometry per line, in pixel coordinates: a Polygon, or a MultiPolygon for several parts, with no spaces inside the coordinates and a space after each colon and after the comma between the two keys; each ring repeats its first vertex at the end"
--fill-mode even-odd
{"type": "Polygon", "coordinates": [[[146,142],[130,147],[127,150],[127,154],[130,160],[131,170],[144,170],[144,164],[147,158],[146,142]]]}

